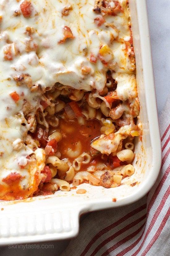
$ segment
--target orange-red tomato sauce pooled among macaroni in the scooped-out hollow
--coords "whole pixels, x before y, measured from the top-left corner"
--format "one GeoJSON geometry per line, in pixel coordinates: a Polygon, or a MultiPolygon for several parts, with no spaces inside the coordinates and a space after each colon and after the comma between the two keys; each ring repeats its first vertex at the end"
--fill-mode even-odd
{"type": "MultiPolygon", "coordinates": [[[[91,150],[91,140],[99,137],[101,135],[100,128],[101,124],[98,120],[86,120],[84,125],[78,123],[78,119],[74,118],[71,121],[66,121],[61,119],[59,122],[60,132],[62,133],[62,140],[57,143],[57,150],[61,153],[61,158],[68,158],[72,163],[76,158],[71,158],[67,155],[67,151],[72,149],[74,152],[76,150],[76,144],[78,141],[81,142],[81,155],[83,152],[90,154],[91,150]]],[[[90,154],[91,155],[91,154],[90,154]]],[[[104,164],[106,170],[112,170],[113,168],[122,165],[123,162],[114,166],[114,158],[113,156],[107,156],[99,154],[92,157],[90,163],[82,164],[80,171],[86,171],[88,167],[94,166],[95,170],[97,170],[97,164],[104,164]]],[[[77,156],[78,157],[78,156],[77,156]]],[[[117,157],[116,157],[117,158],[117,157]]],[[[120,161],[119,161],[120,162],[120,161]]]]}

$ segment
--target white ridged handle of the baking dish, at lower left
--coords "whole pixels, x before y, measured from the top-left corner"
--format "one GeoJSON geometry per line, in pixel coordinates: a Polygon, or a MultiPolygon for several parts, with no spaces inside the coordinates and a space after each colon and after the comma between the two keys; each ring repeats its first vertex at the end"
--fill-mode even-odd
{"type": "Polygon", "coordinates": [[[39,211],[13,212],[0,216],[0,245],[72,238],[79,233],[79,217],[89,206],[63,207],[39,211]]]}

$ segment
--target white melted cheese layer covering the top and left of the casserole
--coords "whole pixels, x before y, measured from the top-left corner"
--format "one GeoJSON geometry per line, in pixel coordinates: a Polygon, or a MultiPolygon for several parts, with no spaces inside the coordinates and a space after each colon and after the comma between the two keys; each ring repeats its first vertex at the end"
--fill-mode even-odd
{"type": "MultiPolygon", "coordinates": [[[[21,169],[20,166],[26,164],[26,157],[33,151],[24,143],[17,150],[16,144],[23,141],[29,130],[23,115],[24,102],[29,103],[34,115],[41,93],[30,92],[29,86],[17,83],[15,78],[27,74],[29,83],[40,85],[44,91],[46,87],[51,88],[59,82],[76,89],[96,89],[97,93],[101,92],[108,69],[98,58],[100,47],[104,44],[113,52],[111,68],[115,68],[116,72],[131,71],[130,60],[123,52],[125,45],[119,40],[130,36],[125,0],[120,0],[124,13],[104,17],[109,24],[107,26],[95,24],[97,14],[93,11],[94,0],[32,0],[32,14],[26,18],[20,10],[22,2],[0,0],[0,183],[3,183],[3,177],[16,172],[24,177],[21,185],[25,189],[33,184],[31,173],[35,173],[35,170],[28,171],[29,168],[21,169]],[[68,4],[72,10],[68,16],[62,16],[62,10],[68,4]],[[74,38],[59,43],[64,38],[65,26],[71,29],[74,38]],[[32,31],[30,34],[28,28],[32,31]],[[9,49],[12,58],[6,55],[5,59],[9,49]],[[96,62],[90,61],[91,54],[96,57],[96,62]],[[82,73],[84,66],[90,68],[88,74],[82,73]],[[19,95],[19,101],[15,102],[10,97],[12,92],[19,95]]],[[[124,76],[124,80],[126,78],[124,76]]],[[[115,79],[118,81],[117,93],[123,99],[127,98],[128,89],[120,86],[123,78],[117,74],[115,79]]]]}

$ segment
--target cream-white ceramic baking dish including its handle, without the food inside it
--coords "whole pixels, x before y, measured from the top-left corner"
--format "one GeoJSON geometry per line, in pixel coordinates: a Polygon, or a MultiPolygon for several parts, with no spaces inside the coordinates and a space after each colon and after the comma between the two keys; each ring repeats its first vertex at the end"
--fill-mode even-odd
{"type": "Polygon", "coordinates": [[[145,195],[154,184],[161,165],[161,146],[146,1],[129,2],[141,106],[139,122],[143,130],[142,142],[135,142],[135,174],[123,179],[123,184],[116,188],[106,189],[84,183],[79,188],[86,189],[86,194],[76,194],[76,190],[57,191],[45,197],[1,201],[0,245],[76,236],[80,214],[130,204],[145,195]]]}

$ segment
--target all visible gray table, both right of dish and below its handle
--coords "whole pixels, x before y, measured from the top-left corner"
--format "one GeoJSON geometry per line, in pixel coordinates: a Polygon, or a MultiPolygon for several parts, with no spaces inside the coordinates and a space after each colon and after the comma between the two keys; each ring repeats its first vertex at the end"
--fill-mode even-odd
{"type": "MultiPolygon", "coordinates": [[[[151,35],[157,107],[158,114],[160,114],[163,110],[168,93],[170,93],[170,0],[147,0],[147,9],[151,35]]],[[[30,256],[30,254],[31,256],[59,256],[68,243],[69,240],[43,243],[53,245],[53,249],[23,250],[1,247],[0,254],[3,256],[30,256]]]]}

